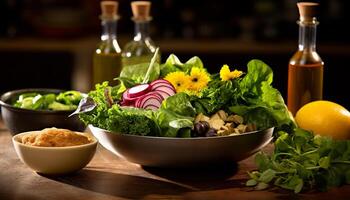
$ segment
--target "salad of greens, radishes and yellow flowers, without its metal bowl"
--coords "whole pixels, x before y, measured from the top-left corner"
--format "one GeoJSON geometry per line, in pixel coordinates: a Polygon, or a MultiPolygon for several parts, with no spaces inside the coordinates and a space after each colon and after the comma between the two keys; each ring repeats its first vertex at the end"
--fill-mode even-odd
{"type": "Polygon", "coordinates": [[[247,67],[242,72],[223,65],[210,74],[198,57],[182,63],[175,55],[162,65],[128,66],[119,85],[97,84],[77,113],[86,124],[140,136],[211,137],[293,126],[271,86],[271,68],[260,60],[247,67]],[[239,120],[226,120],[233,116],[239,120]]]}

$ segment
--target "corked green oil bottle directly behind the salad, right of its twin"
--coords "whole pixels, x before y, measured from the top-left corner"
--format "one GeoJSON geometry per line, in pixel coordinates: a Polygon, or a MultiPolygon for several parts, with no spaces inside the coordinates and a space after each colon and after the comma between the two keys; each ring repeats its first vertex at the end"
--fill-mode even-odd
{"type": "MultiPolygon", "coordinates": [[[[132,20],[135,22],[134,39],[128,42],[122,53],[122,66],[149,63],[156,51],[156,45],[149,35],[149,24],[152,20],[150,17],[151,2],[134,1],[131,2],[133,12],[132,20]]],[[[160,62],[160,53],[157,62],[160,62]]]]}

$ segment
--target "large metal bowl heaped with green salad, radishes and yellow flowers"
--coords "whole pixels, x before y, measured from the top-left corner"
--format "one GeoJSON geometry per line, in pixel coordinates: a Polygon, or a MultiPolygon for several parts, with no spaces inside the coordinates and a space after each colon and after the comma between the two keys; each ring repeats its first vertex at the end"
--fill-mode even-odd
{"type": "Polygon", "coordinates": [[[182,63],[175,55],[161,65],[128,66],[120,84],[97,84],[75,113],[102,146],[134,163],[238,162],[267,145],[274,129],[293,126],[271,68],[260,60],[247,67],[210,74],[198,57],[182,63]]]}

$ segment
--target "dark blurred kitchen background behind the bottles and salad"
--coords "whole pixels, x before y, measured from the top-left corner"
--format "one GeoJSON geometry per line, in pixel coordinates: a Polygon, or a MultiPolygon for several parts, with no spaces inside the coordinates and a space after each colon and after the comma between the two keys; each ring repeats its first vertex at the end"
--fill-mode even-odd
{"type": "MultiPolygon", "coordinates": [[[[119,0],[118,41],[134,32],[130,0],[119,0]]],[[[153,0],[151,36],[163,61],[199,56],[210,72],[222,64],[245,70],[259,58],[275,73],[284,97],[288,61],[297,50],[297,0],[153,0]]],[[[315,1],[317,2],[317,1],[315,1]]],[[[320,1],[319,1],[320,2],[320,1]]],[[[1,0],[0,93],[46,87],[90,88],[91,58],[100,38],[99,0],[1,0]]],[[[350,108],[350,1],[322,0],[317,33],[325,62],[324,98],[350,108]]]]}

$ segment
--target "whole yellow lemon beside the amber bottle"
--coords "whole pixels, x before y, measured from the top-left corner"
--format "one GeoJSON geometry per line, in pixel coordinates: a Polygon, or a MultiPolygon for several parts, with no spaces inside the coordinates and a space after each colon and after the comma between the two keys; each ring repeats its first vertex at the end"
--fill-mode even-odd
{"type": "Polygon", "coordinates": [[[350,112],[330,101],[313,101],[297,112],[295,120],[300,128],[334,139],[350,139],[350,112]]]}

